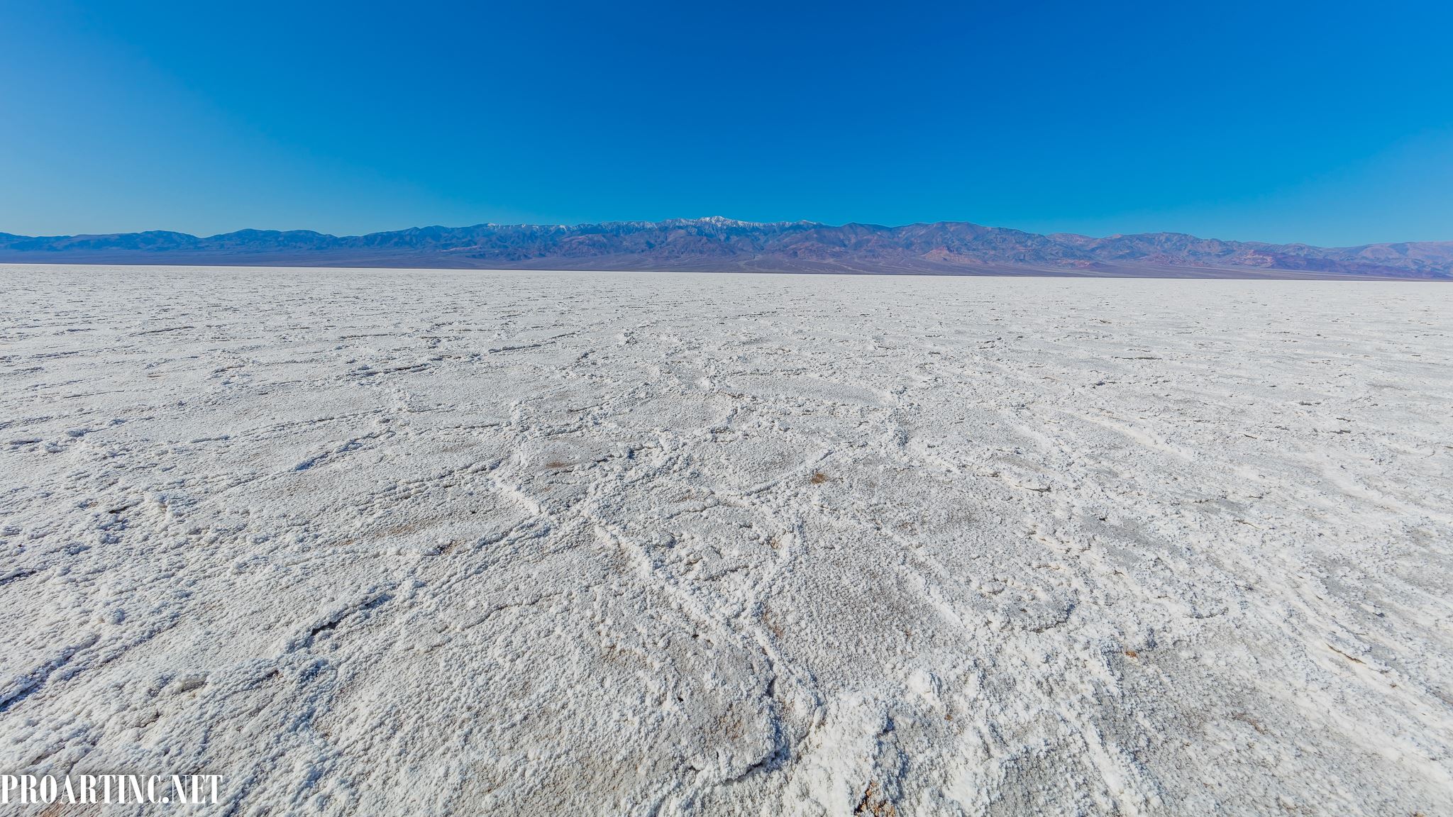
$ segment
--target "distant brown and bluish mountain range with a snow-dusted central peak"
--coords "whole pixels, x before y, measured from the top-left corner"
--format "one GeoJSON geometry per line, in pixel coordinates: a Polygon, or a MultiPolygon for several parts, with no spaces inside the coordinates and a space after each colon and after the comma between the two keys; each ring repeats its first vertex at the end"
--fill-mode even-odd
{"type": "Polygon", "coordinates": [[[414,227],[341,237],[308,230],[240,230],[205,238],[164,231],[0,233],[0,262],[1453,279],[1453,241],[1312,247],[1181,233],[1040,236],[962,221],[833,227],[712,217],[575,227],[414,227]]]}

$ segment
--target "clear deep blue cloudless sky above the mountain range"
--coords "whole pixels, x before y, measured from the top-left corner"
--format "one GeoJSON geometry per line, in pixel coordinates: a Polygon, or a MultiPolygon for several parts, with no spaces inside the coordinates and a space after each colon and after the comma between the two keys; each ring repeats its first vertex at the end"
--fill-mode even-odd
{"type": "Polygon", "coordinates": [[[7,233],[1453,240],[1447,3],[0,0],[0,23],[7,233]]]}

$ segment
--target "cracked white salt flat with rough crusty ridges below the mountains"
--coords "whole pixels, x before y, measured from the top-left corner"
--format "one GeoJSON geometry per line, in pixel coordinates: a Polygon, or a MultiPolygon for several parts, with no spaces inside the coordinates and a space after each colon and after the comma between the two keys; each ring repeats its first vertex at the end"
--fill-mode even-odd
{"type": "Polygon", "coordinates": [[[0,286],[0,770],[221,773],[227,814],[1453,813],[1453,286],[0,286]]]}

